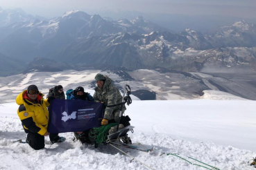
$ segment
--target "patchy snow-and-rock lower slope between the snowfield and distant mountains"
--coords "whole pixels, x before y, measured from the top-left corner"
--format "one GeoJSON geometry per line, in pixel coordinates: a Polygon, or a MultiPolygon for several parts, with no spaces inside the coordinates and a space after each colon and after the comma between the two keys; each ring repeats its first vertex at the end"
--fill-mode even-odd
{"type": "MultiPolygon", "coordinates": [[[[37,69],[43,69],[37,68],[37,69]]],[[[103,67],[101,67],[102,69],[103,67]]],[[[129,84],[133,95],[141,100],[191,100],[199,99],[203,91],[214,90],[225,95],[235,95],[255,100],[255,75],[184,73],[170,70],[65,70],[59,72],[33,72],[0,77],[0,103],[12,102],[30,84],[36,84],[42,93],[61,84],[65,91],[83,86],[89,93],[95,87],[94,76],[103,73],[113,79],[119,89],[129,84]],[[246,78],[247,77],[247,78],[246,78]],[[223,93],[225,92],[225,93],[223,93]]]]}

